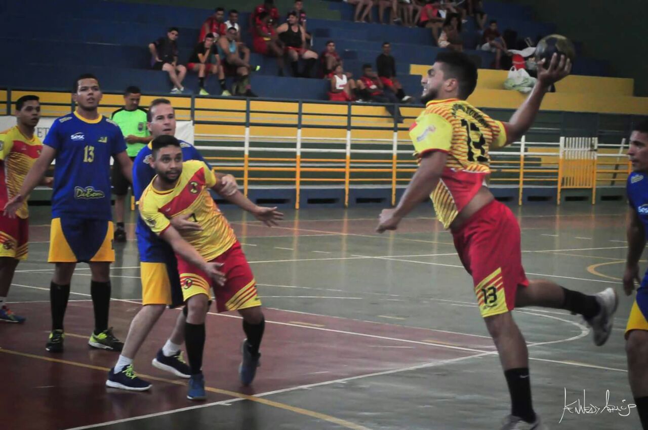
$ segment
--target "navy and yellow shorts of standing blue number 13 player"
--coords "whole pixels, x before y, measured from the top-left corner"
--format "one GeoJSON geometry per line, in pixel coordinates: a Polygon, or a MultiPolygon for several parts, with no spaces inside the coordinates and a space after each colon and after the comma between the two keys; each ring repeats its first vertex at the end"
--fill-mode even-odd
{"type": "Polygon", "coordinates": [[[47,262],[114,261],[112,221],[71,217],[52,220],[47,262]]]}

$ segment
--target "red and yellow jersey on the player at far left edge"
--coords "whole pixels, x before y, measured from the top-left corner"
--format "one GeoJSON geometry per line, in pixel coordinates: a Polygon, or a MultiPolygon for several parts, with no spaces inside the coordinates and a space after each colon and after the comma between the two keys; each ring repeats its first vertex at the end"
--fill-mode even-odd
{"type": "MultiPolygon", "coordinates": [[[[0,207],[5,207],[5,203],[16,196],[41,150],[43,144],[40,139],[36,135],[27,139],[18,130],[18,126],[0,133],[0,161],[4,164],[0,169],[0,207]]],[[[29,216],[27,199],[16,211],[16,215],[20,218],[29,216]]]]}

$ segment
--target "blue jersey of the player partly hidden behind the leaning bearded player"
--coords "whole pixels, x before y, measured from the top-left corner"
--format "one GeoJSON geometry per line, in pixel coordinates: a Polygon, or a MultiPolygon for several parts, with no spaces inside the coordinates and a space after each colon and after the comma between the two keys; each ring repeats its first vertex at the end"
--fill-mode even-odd
{"type": "MultiPolygon", "coordinates": [[[[200,160],[209,166],[209,163],[203,159],[200,152],[192,144],[180,141],[180,148],[182,149],[182,159],[184,161],[200,160]]],[[[156,175],[154,168],[148,164],[152,155],[153,151],[149,143],[137,153],[137,157],[133,161],[133,194],[136,201],[139,201],[142,193],[156,175]]],[[[152,232],[141,216],[137,217],[135,234],[137,234],[137,248],[139,249],[139,259],[141,261],[163,263],[167,262],[169,256],[174,256],[168,243],[152,232]]]]}

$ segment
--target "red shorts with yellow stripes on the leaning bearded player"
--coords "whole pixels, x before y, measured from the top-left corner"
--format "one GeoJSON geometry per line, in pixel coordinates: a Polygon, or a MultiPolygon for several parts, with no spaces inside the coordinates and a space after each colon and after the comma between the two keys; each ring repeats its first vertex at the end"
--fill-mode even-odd
{"type": "Polygon", "coordinates": [[[257,296],[257,282],[240,243],[235,242],[227,251],[211,260],[223,264],[219,270],[225,273],[227,278],[224,286],[216,285],[205,272],[186,262],[181,256],[176,255],[176,258],[185,302],[196,294],[211,297],[209,289],[213,288],[218,312],[261,306],[261,300],[257,296]]]}

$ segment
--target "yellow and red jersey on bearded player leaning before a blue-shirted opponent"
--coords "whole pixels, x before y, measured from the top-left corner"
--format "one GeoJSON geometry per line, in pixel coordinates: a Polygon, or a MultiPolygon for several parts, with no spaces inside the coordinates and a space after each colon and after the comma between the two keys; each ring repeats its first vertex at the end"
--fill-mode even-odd
{"type": "Polygon", "coordinates": [[[176,186],[168,191],[154,187],[155,178],[139,199],[139,214],[148,227],[162,234],[170,218],[191,214],[190,221],[200,224],[202,231],[182,232],[182,237],[210,261],[236,242],[234,231],[220,212],[208,189],[216,185],[216,176],[202,161],[185,161],[176,186]]]}

